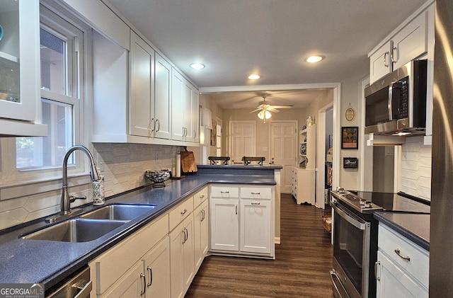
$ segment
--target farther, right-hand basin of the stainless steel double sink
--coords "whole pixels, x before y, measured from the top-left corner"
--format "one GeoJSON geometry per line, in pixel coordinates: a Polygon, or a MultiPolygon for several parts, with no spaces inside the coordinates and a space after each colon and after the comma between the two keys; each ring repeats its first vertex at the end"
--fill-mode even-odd
{"type": "Polygon", "coordinates": [[[107,205],[86,214],[82,214],[80,218],[132,220],[153,210],[154,207],[156,207],[156,205],[107,205]]]}

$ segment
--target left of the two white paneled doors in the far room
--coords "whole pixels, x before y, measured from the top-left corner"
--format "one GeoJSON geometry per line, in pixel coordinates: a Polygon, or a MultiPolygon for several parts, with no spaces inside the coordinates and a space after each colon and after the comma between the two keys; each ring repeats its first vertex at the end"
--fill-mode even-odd
{"type": "Polygon", "coordinates": [[[231,160],[241,162],[242,156],[256,155],[256,121],[230,122],[231,160]]]}

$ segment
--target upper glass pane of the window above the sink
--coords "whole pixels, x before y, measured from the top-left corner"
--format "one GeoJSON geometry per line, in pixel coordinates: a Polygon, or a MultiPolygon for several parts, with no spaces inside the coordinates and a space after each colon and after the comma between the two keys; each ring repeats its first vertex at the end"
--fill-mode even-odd
{"type": "Polygon", "coordinates": [[[40,29],[41,88],[67,95],[67,42],[40,29]]]}

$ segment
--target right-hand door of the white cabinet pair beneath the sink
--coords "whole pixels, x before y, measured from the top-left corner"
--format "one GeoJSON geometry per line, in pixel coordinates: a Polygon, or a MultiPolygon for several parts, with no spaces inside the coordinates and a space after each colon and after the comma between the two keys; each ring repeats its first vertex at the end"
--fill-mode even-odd
{"type": "Polygon", "coordinates": [[[147,298],[170,297],[170,243],[165,237],[144,257],[147,298]]]}

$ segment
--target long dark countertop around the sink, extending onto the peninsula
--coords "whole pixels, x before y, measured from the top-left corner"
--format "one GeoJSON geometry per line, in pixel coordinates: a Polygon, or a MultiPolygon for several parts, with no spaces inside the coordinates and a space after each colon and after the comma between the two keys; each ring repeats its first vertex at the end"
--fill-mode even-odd
{"type": "MultiPolygon", "coordinates": [[[[101,238],[82,243],[42,241],[19,238],[22,234],[41,229],[46,224],[44,218],[28,224],[21,224],[1,231],[0,234],[0,282],[35,283],[40,282],[49,290],[58,282],[88,265],[108,248],[125,239],[137,229],[149,224],[181,200],[194,195],[208,183],[265,184],[275,185],[274,169],[281,166],[218,166],[229,168],[227,173],[218,171],[217,166],[202,166],[196,175],[178,180],[167,180],[165,188],[152,188],[151,185],[127,193],[108,197],[106,205],[130,203],[156,205],[154,210],[138,217],[121,227],[110,231],[101,238]],[[215,171],[217,170],[217,171],[215,171]]],[[[92,204],[81,206],[84,212],[96,209],[92,204]]]]}

